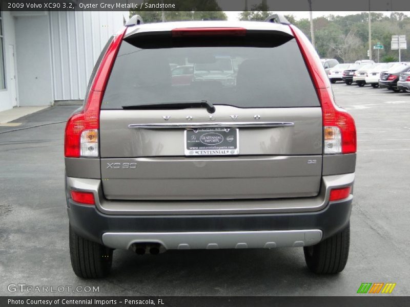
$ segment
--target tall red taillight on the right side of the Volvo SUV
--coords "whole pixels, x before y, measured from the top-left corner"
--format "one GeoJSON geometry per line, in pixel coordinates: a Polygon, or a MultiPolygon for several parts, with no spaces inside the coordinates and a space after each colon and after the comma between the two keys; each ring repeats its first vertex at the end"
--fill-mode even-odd
{"type": "MultiPolygon", "coordinates": [[[[338,107],[333,99],[333,93],[329,84],[329,78],[324,73],[320,58],[312,47],[308,38],[296,27],[290,25],[293,35],[298,43],[303,55],[306,67],[308,67],[313,83],[322,105],[323,127],[330,130],[330,127],[337,127],[340,130],[341,152],[356,152],[356,126],[353,117],[344,109],[338,107]],[[323,75],[326,78],[323,78],[323,75]]],[[[345,72],[343,72],[345,76],[345,72]]],[[[325,130],[324,129],[324,130],[325,130]]],[[[338,153],[331,151],[332,153],[338,153]]],[[[324,148],[324,153],[325,148],[324,148]]]]}

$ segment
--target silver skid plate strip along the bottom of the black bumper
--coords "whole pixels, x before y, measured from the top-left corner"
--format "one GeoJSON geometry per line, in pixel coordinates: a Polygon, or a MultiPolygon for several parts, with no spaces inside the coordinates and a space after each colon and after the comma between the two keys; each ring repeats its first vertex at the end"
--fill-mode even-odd
{"type": "Polygon", "coordinates": [[[320,242],[322,231],[268,230],[217,232],[106,232],[105,246],[130,249],[134,243],[159,243],[166,249],[276,248],[311,246],[320,242]]]}

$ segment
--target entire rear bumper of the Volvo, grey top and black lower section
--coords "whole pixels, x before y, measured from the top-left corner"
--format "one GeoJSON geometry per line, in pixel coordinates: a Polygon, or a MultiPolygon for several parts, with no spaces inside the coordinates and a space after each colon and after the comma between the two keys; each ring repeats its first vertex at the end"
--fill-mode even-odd
{"type": "Polygon", "coordinates": [[[147,202],[108,201],[101,180],[67,177],[68,215],[78,235],[118,249],[148,242],[166,249],[309,246],[350,220],[353,195],[336,202],[329,195],[353,187],[354,178],[354,172],[322,176],[311,198],[147,202]],[[93,192],[96,205],[74,202],[69,190],[93,192]]]}

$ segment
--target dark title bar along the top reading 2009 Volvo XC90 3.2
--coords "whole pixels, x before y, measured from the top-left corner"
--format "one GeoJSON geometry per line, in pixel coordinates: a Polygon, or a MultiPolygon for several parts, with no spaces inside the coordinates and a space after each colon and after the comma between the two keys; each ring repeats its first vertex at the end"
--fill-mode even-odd
{"type": "MultiPolygon", "coordinates": [[[[0,0],[3,11],[309,11],[308,0],[0,0]]],[[[313,0],[312,11],[410,11],[408,0],[313,0]]]]}

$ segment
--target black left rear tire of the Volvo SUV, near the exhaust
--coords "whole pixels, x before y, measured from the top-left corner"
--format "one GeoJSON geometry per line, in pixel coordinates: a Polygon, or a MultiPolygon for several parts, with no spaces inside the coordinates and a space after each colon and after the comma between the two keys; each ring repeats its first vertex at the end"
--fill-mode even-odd
{"type": "Polygon", "coordinates": [[[101,278],[110,273],[113,250],[77,235],[71,228],[70,258],[75,275],[81,278],[101,278]]]}

